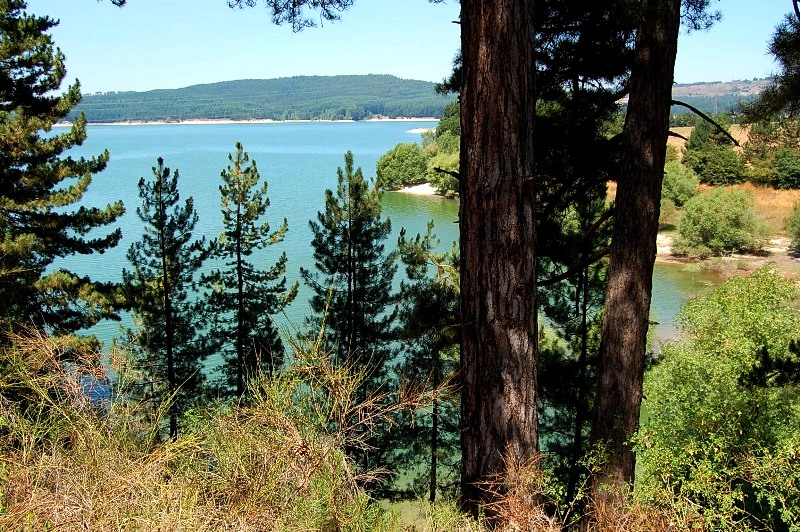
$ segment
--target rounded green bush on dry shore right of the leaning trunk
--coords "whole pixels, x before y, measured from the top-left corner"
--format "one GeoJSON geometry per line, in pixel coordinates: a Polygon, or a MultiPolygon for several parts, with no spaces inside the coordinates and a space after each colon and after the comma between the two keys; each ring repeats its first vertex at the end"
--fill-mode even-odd
{"type": "Polygon", "coordinates": [[[756,218],[752,195],[717,188],[686,203],[678,233],[673,245],[676,253],[705,258],[758,252],[769,228],[756,218]]]}

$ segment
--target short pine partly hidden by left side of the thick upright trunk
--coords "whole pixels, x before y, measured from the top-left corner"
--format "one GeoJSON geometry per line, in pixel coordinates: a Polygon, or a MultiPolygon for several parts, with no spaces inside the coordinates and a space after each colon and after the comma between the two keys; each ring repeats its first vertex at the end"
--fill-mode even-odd
{"type": "Polygon", "coordinates": [[[460,403],[454,388],[460,342],[458,252],[437,253],[433,222],[424,236],[408,240],[401,231],[398,248],[408,281],[400,287],[398,336],[402,361],[393,373],[403,381],[439,390],[430,408],[411,412],[393,431],[395,470],[410,477],[409,490],[427,492],[434,502],[455,498],[459,479],[460,403]]]}

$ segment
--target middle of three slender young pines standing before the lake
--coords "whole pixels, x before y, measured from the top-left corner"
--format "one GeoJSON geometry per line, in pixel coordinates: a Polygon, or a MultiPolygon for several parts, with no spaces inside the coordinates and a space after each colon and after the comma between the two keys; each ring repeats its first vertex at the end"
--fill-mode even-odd
{"type": "Polygon", "coordinates": [[[272,316],[297,295],[297,284],[286,286],[286,253],[266,269],[248,259],[254,252],[281,242],[288,230],[286,219],[270,233],[262,221],[269,199],[267,182],[260,187],[256,162],[236,144],[228,156],[231,165],[222,172],[222,221],[225,231],[213,256],[225,261],[224,270],[204,278],[211,289],[209,308],[214,315],[212,337],[219,342],[225,363],[223,387],[242,396],[248,377],[272,373],[281,364],[284,347],[272,316]]]}

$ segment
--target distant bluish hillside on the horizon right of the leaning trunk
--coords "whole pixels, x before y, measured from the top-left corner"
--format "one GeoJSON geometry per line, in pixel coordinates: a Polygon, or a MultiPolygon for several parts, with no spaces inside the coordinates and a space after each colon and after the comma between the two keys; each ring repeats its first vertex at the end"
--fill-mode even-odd
{"type": "MultiPolygon", "coordinates": [[[[770,83],[771,79],[746,79],[677,84],[672,88],[672,97],[706,113],[722,113],[734,109],[742,100],[758,96],[770,83]]],[[[685,107],[672,108],[676,114],[687,111],[685,107]]]]}

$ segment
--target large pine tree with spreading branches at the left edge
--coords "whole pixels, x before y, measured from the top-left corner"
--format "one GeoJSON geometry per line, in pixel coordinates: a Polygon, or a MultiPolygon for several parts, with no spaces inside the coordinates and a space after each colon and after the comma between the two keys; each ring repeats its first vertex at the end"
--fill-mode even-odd
{"type": "Polygon", "coordinates": [[[76,82],[55,94],[66,75],[64,55],[46,32],[57,22],[27,14],[24,0],[0,2],[0,327],[42,327],[63,334],[115,318],[113,286],[64,269],[58,259],[103,253],[121,237],[98,230],[124,212],[77,205],[106,166],[108,152],[64,157],[86,138],[79,116],[51,134],[81,99],[76,82]]]}

